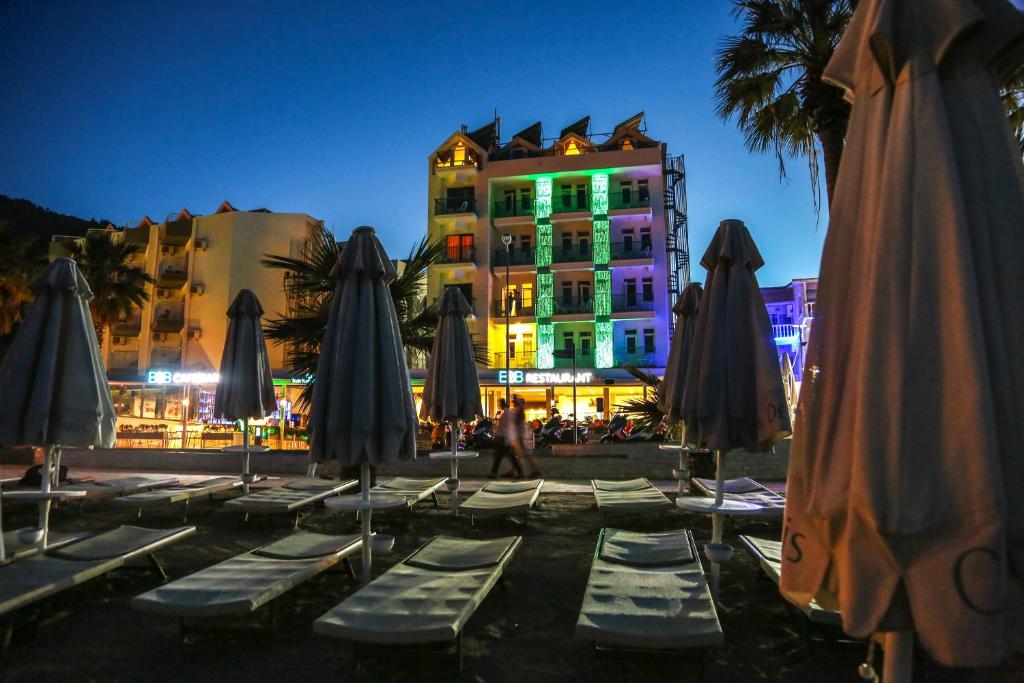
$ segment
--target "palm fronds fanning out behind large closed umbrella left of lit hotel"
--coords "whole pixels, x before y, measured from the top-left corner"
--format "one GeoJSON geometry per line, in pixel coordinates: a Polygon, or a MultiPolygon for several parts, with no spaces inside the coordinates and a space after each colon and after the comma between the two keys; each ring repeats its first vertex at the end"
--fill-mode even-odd
{"type": "MultiPolygon", "coordinates": [[[[266,254],[262,260],[266,267],[285,271],[293,307],[288,313],[267,321],[265,330],[268,339],[286,345],[286,360],[296,376],[312,377],[316,373],[321,342],[327,331],[336,287],[331,270],[343,248],[330,230],[321,226],[310,240],[304,257],[266,254]]],[[[437,305],[424,299],[424,290],[427,268],[439,262],[444,253],[443,242],[421,240],[410,251],[389,288],[401,340],[411,360],[425,358],[433,345],[437,305]]],[[[477,355],[482,359],[484,354],[478,350],[477,355]]],[[[311,398],[311,383],[305,386],[300,401],[307,402],[311,398]]]]}

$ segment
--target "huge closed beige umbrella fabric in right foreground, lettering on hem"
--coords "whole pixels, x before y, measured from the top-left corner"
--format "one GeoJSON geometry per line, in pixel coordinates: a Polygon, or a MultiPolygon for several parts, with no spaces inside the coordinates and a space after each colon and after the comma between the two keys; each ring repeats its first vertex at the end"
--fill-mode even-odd
{"type": "Polygon", "coordinates": [[[863,0],[826,71],[853,111],[781,590],[946,665],[1024,628],[1024,169],[995,78],[1022,36],[1004,0],[863,0]]]}

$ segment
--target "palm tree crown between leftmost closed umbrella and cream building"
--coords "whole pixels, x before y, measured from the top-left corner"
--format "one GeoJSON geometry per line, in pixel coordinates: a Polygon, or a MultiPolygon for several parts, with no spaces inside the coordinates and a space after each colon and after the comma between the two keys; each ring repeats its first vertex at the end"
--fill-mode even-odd
{"type": "Polygon", "coordinates": [[[115,234],[90,231],[84,240],[67,247],[68,255],[78,262],[92,290],[89,308],[100,347],[106,328],[141,308],[150,300],[146,287],[156,282],[144,268],[131,263],[132,257],[142,253],[142,248],[117,240],[115,234]]]}

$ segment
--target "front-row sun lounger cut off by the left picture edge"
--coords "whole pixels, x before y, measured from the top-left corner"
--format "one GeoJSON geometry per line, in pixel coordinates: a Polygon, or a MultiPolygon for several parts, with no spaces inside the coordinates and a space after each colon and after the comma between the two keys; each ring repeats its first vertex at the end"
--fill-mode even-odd
{"type": "Polygon", "coordinates": [[[195,526],[171,529],[119,526],[59,548],[47,548],[33,557],[0,567],[0,615],[143,556],[166,578],[153,553],[195,532],[195,526]]]}

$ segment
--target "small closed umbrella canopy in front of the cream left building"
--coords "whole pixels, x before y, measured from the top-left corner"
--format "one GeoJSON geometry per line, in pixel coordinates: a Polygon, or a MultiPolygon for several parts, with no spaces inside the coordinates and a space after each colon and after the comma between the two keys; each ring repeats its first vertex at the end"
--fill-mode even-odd
{"type": "Polygon", "coordinates": [[[230,323],[213,407],[218,418],[263,418],[278,408],[270,358],[260,325],[262,315],[263,306],[252,290],[240,291],[227,309],[230,323]]]}

